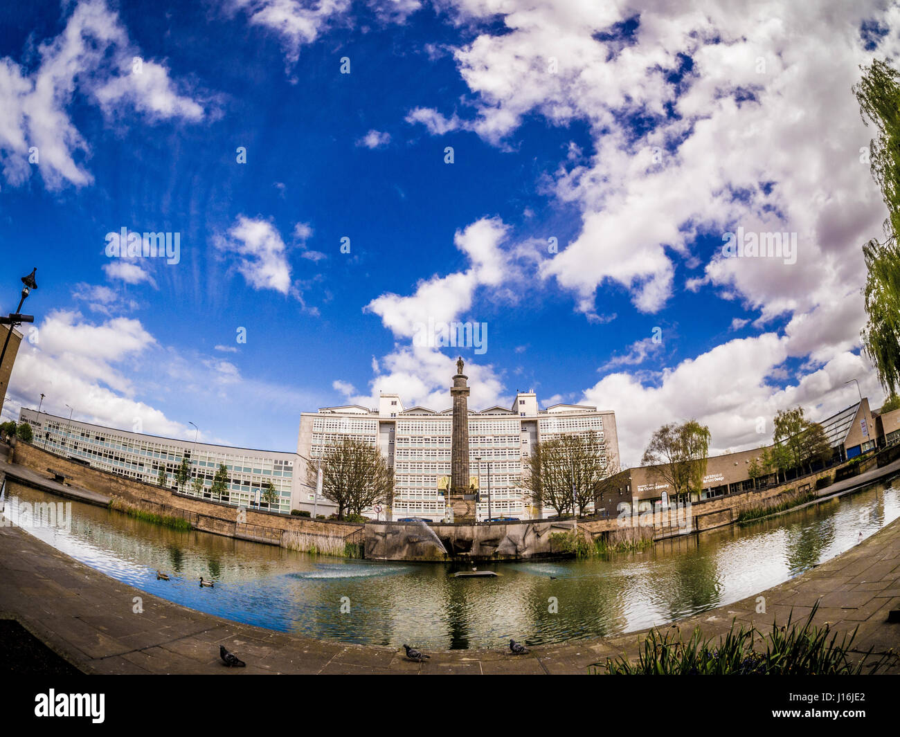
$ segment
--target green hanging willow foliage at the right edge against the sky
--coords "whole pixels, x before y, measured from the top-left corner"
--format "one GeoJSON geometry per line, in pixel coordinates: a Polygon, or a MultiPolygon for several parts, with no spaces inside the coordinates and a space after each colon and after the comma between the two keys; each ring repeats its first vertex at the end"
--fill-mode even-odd
{"type": "Polygon", "coordinates": [[[887,205],[887,220],[885,240],[873,238],[862,247],[869,273],[863,289],[869,321],[860,337],[878,380],[893,395],[900,388],[900,74],[878,60],[862,69],[853,92],[863,122],[871,121],[877,129],[869,142],[869,161],[887,205]]]}

